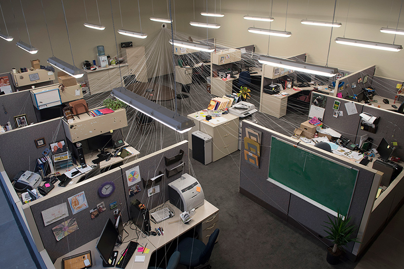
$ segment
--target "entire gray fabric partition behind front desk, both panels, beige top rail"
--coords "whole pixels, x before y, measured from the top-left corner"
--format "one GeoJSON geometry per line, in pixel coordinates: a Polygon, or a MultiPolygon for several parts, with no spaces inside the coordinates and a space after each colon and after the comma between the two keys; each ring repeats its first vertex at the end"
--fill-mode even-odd
{"type": "MultiPolygon", "coordinates": [[[[138,184],[141,188],[141,192],[137,193],[134,197],[129,198],[129,188],[126,182],[125,170],[139,166],[140,176],[143,178],[151,178],[154,176],[155,171],[158,172],[159,169],[163,168],[165,172],[164,156],[171,157],[173,155],[176,155],[179,153],[180,149],[185,152],[182,158],[182,161],[185,163],[183,172],[188,172],[188,141],[185,140],[148,156],[142,157],[131,163],[128,163],[122,166],[122,168],[114,168],[79,184],[68,185],[65,191],[62,190],[53,194],[52,192],[50,192],[43,199],[26,204],[25,206],[27,208],[24,209],[24,212],[26,213],[26,215],[32,214],[36,224],[36,228],[34,228],[37,229],[40,235],[40,240],[42,241],[42,244],[52,262],[55,262],[58,257],[68,253],[69,251],[72,251],[73,249],[76,249],[81,245],[97,238],[101,234],[107,219],[114,219],[113,211],[115,209],[121,209],[122,221],[126,222],[129,219],[128,208],[130,206],[131,199],[136,198],[140,200],[141,202],[145,203],[147,208],[149,209],[157,206],[159,203],[167,201],[167,184],[179,178],[182,175],[182,172],[170,177],[169,179],[163,179],[160,183],[158,183],[158,185],[160,185],[160,193],[155,194],[150,198],[148,198],[147,190],[144,189],[142,182],[139,182],[138,184]],[[115,184],[115,192],[107,198],[99,197],[98,188],[101,186],[101,184],[110,181],[114,182],[115,184]],[[81,192],[84,192],[85,194],[88,208],[73,215],[68,203],[68,198],[81,192]],[[126,203],[126,201],[128,202],[126,203]],[[48,226],[44,226],[41,212],[45,209],[64,202],[68,203],[67,207],[69,216],[65,217],[63,220],[61,219],[60,221],[52,223],[48,226]],[[106,210],[99,213],[98,217],[91,219],[89,210],[97,207],[100,202],[104,202],[106,210]],[[110,209],[109,204],[112,202],[117,202],[118,207],[110,209]],[[67,235],[60,241],[56,241],[55,236],[52,232],[52,228],[56,225],[59,225],[63,221],[66,221],[73,217],[77,221],[79,230],[74,231],[70,235],[67,235]]],[[[175,167],[175,164],[173,166],[175,167]]],[[[131,187],[133,186],[135,185],[132,185],[131,187]]],[[[30,229],[33,230],[33,227],[30,227],[30,229]]],[[[92,255],[98,255],[98,253],[93,253],[92,255]]]]}

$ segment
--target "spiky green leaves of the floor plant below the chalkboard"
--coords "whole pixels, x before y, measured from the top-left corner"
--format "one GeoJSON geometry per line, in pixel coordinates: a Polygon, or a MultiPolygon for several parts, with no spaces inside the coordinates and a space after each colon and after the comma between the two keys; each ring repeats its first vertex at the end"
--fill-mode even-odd
{"type": "MultiPolygon", "coordinates": [[[[352,233],[355,231],[355,225],[349,225],[351,221],[351,217],[348,219],[342,218],[342,215],[337,212],[338,217],[334,220],[331,220],[329,216],[329,222],[324,221],[329,226],[323,225],[327,230],[324,230],[328,235],[325,238],[330,239],[334,246],[332,247],[332,253],[336,253],[340,246],[345,246],[349,242],[359,242],[358,238],[351,238],[352,233]]],[[[341,249],[340,249],[341,250],[341,249]]]]}

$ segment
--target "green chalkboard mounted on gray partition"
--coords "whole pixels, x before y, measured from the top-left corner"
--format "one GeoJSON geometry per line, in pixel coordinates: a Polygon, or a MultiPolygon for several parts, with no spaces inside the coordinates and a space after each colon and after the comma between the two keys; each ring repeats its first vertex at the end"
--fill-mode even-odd
{"type": "Polygon", "coordinates": [[[298,197],[329,213],[330,210],[339,210],[341,215],[347,215],[358,170],[324,159],[274,136],[270,158],[269,181],[291,189],[298,197]]]}

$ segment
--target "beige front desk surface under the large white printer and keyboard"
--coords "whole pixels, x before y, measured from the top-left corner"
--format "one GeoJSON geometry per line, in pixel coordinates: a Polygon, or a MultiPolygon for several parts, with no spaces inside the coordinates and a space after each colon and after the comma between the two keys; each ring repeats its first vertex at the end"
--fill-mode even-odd
{"type": "MultiPolygon", "coordinates": [[[[159,223],[159,224],[154,224],[152,222],[152,231],[154,231],[155,227],[162,227],[164,230],[164,235],[162,236],[146,236],[146,237],[142,237],[142,235],[144,235],[143,233],[139,236],[139,238],[137,239],[138,244],[140,244],[141,246],[145,246],[147,244],[147,248],[150,249],[150,252],[148,254],[142,254],[140,252],[135,252],[133,253],[132,258],[130,259],[128,265],[126,266],[126,268],[135,268],[135,269],[142,269],[142,268],[147,268],[149,266],[149,261],[150,258],[152,256],[152,254],[159,248],[164,247],[167,243],[171,242],[172,240],[174,240],[175,238],[177,238],[178,236],[184,234],[185,232],[196,228],[198,231],[200,231],[201,229],[203,229],[206,224],[211,224],[210,226],[213,226],[210,230],[211,233],[213,233],[213,231],[217,228],[218,224],[217,224],[217,220],[218,220],[218,213],[219,213],[219,209],[217,207],[215,207],[214,205],[212,205],[211,203],[207,202],[206,200],[204,201],[204,204],[199,207],[198,209],[196,209],[195,211],[195,215],[193,216],[193,219],[187,223],[184,224],[182,223],[182,221],[180,221],[180,210],[175,207],[174,205],[172,205],[171,203],[168,202],[168,204],[171,206],[171,208],[173,208],[175,210],[175,216],[169,219],[166,219],[165,221],[159,223]],[[177,221],[177,222],[175,222],[177,221]],[[174,223],[172,223],[174,222],[174,223]],[[171,224],[170,224],[171,223],[171,224]],[[136,255],[142,255],[145,256],[145,261],[143,263],[134,263],[134,259],[136,255]]],[[[133,227],[133,225],[132,225],[133,227]]],[[[210,228],[210,227],[207,227],[210,228]]],[[[203,231],[206,231],[207,228],[203,229],[203,231]]],[[[114,250],[118,250],[119,251],[119,257],[121,257],[121,251],[124,250],[128,244],[128,242],[130,240],[135,241],[137,235],[136,232],[134,230],[130,230],[127,226],[125,227],[126,232],[129,233],[129,235],[126,237],[125,242],[127,243],[123,243],[121,246],[116,247],[114,250]]],[[[202,232],[203,232],[202,231],[202,232]]],[[[205,234],[201,234],[199,233],[200,237],[199,239],[202,240],[203,242],[207,242],[207,240],[204,240],[202,238],[201,235],[203,235],[204,238],[208,238],[209,235],[205,235],[205,234]],[[207,237],[206,237],[207,236],[207,237]]],[[[61,262],[62,259],[71,255],[75,255],[75,254],[79,254],[81,252],[84,251],[88,251],[91,250],[91,257],[92,257],[92,268],[94,269],[101,269],[102,267],[102,260],[101,257],[98,253],[98,251],[95,249],[95,244],[97,243],[98,238],[82,245],[81,247],[69,252],[66,255],[63,255],[62,257],[59,257],[55,263],[55,269],[60,269],[61,268],[61,262]]]]}

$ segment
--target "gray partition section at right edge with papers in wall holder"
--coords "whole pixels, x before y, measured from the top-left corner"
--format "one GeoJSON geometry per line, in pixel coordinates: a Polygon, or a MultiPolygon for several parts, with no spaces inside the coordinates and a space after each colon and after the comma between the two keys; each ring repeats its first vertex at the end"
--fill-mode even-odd
{"type": "Polygon", "coordinates": [[[361,135],[367,134],[369,137],[373,138],[373,147],[377,147],[384,137],[391,146],[394,146],[393,142],[397,142],[393,156],[400,157],[404,160],[404,114],[370,105],[363,105],[363,112],[375,117],[380,117],[380,120],[377,124],[376,134],[361,130],[361,124],[359,124],[356,143],[359,143],[361,135]]]}

